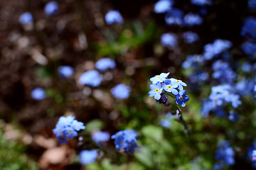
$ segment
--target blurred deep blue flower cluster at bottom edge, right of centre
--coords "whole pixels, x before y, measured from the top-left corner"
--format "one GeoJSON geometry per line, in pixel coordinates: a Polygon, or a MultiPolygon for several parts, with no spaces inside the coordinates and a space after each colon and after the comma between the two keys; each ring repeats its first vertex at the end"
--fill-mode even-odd
{"type": "Polygon", "coordinates": [[[225,166],[235,164],[234,156],[235,152],[229,143],[227,141],[220,141],[215,152],[215,159],[218,163],[213,166],[213,169],[224,169],[225,166]]]}

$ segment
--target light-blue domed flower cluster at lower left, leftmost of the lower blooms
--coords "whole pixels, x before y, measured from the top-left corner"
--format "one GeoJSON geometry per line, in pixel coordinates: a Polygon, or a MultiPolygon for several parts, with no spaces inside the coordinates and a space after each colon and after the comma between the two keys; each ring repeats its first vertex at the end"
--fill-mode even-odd
{"type": "Polygon", "coordinates": [[[56,135],[60,144],[63,144],[67,143],[68,139],[78,136],[78,131],[83,129],[85,129],[83,123],[75,120],[74,116],[68,115],[67,117],[60,117],[55,129],[53,129],[53,133],[56,135]]]}

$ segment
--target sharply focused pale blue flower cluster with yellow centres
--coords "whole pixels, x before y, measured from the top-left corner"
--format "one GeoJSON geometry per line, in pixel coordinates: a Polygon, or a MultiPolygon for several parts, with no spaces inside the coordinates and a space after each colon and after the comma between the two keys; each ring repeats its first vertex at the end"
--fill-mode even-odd
{"type": "Polygon", "coordinates": [[[167,79],[168,75],[169,73],[161,73],[160,75],[151,77],[150,81],[152,81],[152,84],[150,85],[151,91],[149,91],[149,97],[154,96],[159,103],[166,104],[167,97],[165,96],[165,93],[169,92],[176,97],[176,104],[180,104],[182,107],[186,106],[186,102],[189,98],[186,95],[186,90],[183,90],[183,86],[187,85],[178,79],[167,79]]]}

